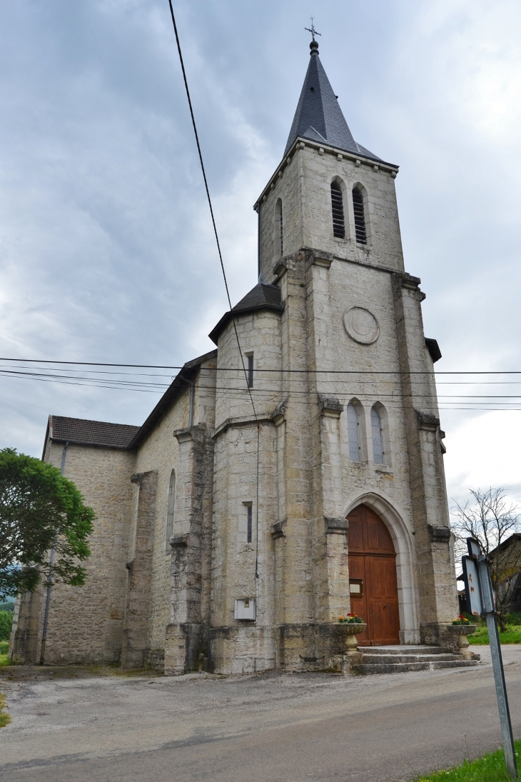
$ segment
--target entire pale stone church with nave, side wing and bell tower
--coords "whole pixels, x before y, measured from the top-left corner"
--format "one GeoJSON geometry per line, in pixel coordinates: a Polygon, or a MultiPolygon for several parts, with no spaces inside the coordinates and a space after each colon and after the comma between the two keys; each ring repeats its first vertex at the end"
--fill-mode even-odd
{"type": "MultiPolygon", "coordinates": [[[[366,620],[362,646],[439,646],[458,613],[441,353],[404,267],[398,167],[355,142],[310,48],[254,206],[259,284],[216,349],[139,427],[48,419],[43,459],[97,521],[86,585],[52,588],[45,662],[342,669],[339,615],[366,620]]],[[[43,587],[20,597],[20,662],[44,613],[43,587]]]]}

